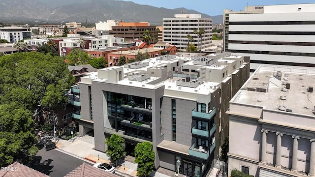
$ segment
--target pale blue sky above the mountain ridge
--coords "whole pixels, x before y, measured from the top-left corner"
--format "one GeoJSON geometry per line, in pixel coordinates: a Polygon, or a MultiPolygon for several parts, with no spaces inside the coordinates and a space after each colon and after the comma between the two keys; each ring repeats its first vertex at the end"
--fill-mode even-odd
{"type": "Polygon", "coordinates": [[[315,3],[315,0],[125,0],[139,4],[147,4],[156,7],[177,8],[185,7],[196,10],[208,15],[222,15],[223,9],[244,10],[248,4],[253,5],[278,5],[278,4],[297,4],[315,3]]]}

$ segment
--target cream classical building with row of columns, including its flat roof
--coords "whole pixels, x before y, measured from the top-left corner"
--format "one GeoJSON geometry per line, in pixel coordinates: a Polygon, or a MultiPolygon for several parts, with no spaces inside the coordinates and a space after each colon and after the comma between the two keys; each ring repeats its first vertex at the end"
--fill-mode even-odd
{"type": "Polygon", "coordinates": [[[260,66],[230,101],[228,174],[315,177],[315,69],[260,66]]]}

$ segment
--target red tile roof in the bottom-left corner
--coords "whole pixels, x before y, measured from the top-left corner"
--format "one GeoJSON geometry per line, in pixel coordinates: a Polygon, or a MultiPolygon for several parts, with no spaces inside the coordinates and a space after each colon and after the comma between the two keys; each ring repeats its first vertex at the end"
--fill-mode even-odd
{"type": "Polygon", "coordinates": [[[49,177],[19,162],[1,168],[0,177],[49,177]],[[3,170],[2,170],[3,169],[3,170]]]}

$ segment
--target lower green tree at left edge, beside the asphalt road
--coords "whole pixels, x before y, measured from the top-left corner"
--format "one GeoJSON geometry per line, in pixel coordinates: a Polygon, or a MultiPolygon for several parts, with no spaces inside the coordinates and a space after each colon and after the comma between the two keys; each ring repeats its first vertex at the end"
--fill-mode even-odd
{"type": "Polygon", "coordinates": [[[24,160],[32,158],[38,149],[33,146],[32,112],[19,108],[21,104],[12,102],[0,104],[0,166],[5,167],[20,156],[24,160]]]}

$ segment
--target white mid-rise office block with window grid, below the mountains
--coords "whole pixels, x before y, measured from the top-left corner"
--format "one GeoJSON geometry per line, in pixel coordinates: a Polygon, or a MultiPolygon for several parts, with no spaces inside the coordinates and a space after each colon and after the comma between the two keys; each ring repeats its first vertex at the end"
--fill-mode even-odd
{"type": "Polygon", "coordinates": [[[201,18],[200,14],[175,14],[174,18],[163,18],[163,41],[176,45],[180,50],[186,50],[188,46],[187,35],[193,40],[189,43],[204,51],[212,43],[212,19],[201,18]],[[205,34],[198,38],[193,34],[194,30],[205,30],[205,34]]]}

